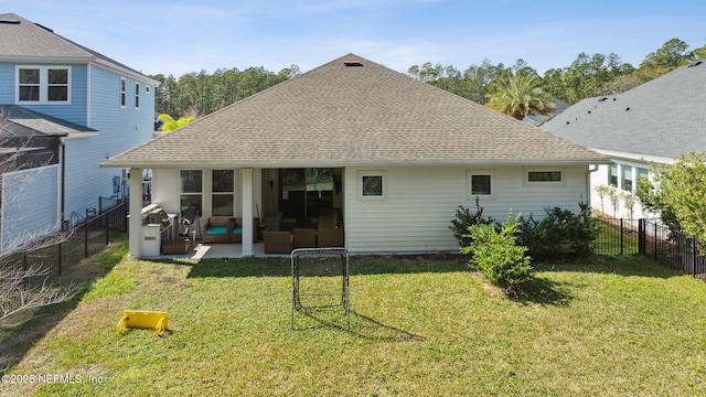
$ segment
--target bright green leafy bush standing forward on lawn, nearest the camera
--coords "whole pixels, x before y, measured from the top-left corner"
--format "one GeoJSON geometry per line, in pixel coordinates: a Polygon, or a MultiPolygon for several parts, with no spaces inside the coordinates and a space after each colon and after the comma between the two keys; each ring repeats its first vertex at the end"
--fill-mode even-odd
{"type": "Polygon", "coordinates": [[[470,226],[472,242],[461,248],[462,254],[472,254],[469,264],[473,268],[509,293],[516,293],[532,278],[531,258],[525,256],[527,248],[515,240],[520,232],[517,219],[518,216],[512,219],[509,215],[498,229],[489,224],[470,226]]]}

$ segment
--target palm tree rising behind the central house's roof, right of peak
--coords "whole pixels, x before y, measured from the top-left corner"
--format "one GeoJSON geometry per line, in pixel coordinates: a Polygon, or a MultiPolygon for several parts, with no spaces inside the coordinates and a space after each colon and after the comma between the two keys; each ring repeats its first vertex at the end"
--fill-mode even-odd
{"type": "Polygon", "coordinates": [[[498,78],[485,95],[491,109],[522,120],[527,115],[550,115],[554,101],[545,93],[536,75],[505,73],[498,78]]]}

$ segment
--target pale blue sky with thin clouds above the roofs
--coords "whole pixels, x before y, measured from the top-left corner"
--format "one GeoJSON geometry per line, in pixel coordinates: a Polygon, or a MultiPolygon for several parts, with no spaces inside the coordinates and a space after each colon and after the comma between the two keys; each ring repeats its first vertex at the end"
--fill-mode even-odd
{"type": "Polygon", "coordinates": [[[706,45],[704,0],[0,0],[0,13],[175,77],[307,72],[349,53],[402,73],[522,58],[542,75],[580,53],[614,53],[637,67],[671,39],[706,45]]]}

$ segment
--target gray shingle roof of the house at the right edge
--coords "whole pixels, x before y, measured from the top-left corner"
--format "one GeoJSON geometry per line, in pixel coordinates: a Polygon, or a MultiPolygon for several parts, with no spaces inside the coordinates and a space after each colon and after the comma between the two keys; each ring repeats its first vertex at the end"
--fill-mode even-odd
{"type": "Polygon", "coordinates": [[[539,128],[637,159],[706,151],[706,63],[681,67],[620,95],[584,99],[539,128]]]}

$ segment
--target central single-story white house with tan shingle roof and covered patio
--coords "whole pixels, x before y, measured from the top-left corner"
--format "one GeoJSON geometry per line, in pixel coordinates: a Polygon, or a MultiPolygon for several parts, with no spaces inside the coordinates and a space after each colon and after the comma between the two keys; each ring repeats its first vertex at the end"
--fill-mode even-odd
{"type": "MultiPolygon", "coordinates": [[[[201,225],[242,217],[247,256],[253,218],[272,213],[282,228],[338,218],[351,253],[458,251],[449,226],[459,205],[474,211],[478,196],[499,221],[578,211],[591,164],[607,160],[349,54],[101,167],[151,169],[152,202],[168,213],[196,204],[201,225]]],[[[132,214],[140,186],[130,181],[132,214]]],[[[130,256],[142,256],[142,243],[132,217],[130,256]]]]}

